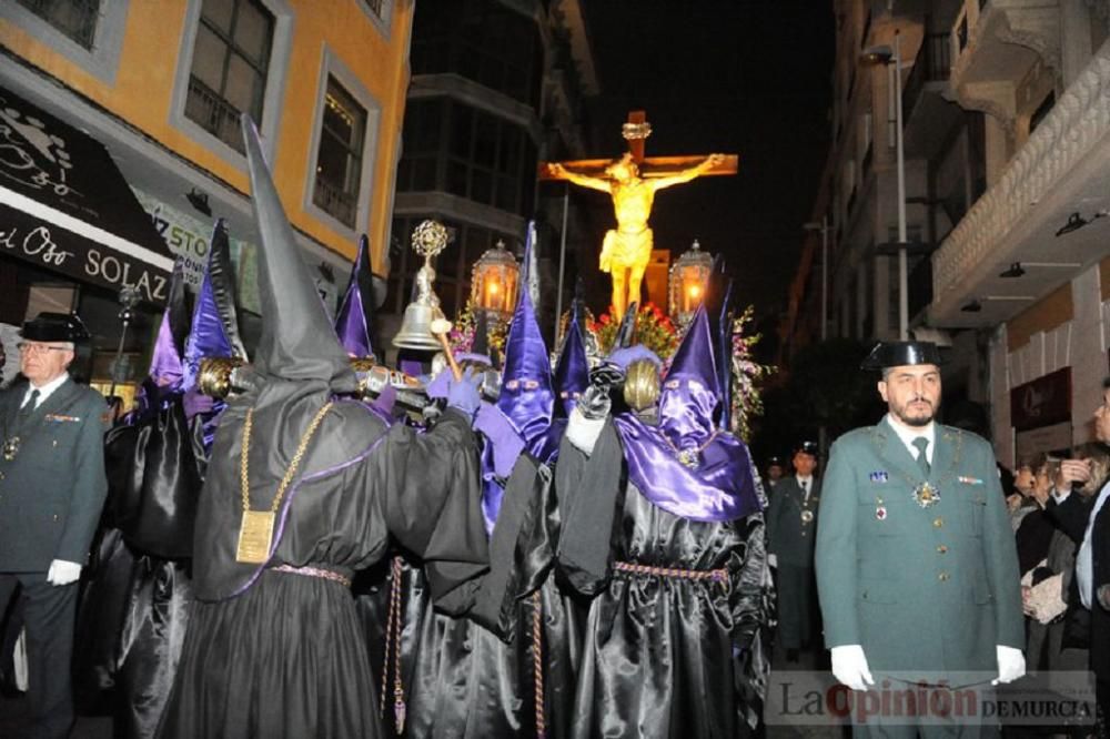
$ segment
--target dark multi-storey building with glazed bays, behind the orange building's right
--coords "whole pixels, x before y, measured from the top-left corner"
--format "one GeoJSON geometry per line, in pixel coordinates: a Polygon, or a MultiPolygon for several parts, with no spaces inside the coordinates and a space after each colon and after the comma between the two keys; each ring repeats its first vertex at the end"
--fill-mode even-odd
{"type": "Polygon", "coordinates": [[[583,101],[598,92],[578,0],[420,2],[412,74],[382,335],[400,327],[422,263],[408,240],[430,217],[451,234],[435,262],[448,316],[465,307],[478,257],[498,241],[519,255],[535,217],[546,330],[564,232],[574,244],[582,226],[572,214],[563,227],[562,200],[539,189],[536,165],[584,154],[583,101]]]}

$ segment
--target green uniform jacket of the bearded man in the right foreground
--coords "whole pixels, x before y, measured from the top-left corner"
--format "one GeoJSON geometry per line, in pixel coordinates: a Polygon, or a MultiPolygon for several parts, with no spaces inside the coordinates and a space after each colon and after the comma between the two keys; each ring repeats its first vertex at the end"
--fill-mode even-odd
{"type": "Polygon", "coordinates": [[[990,445],[937,425],[929,483],[885,418],[829,454],[817,528],[817,588],[829,648],[861,645],[871,675],[992,679],[996,645],[1021,649],[1018,558],[990,445]],[[971,675],[976,674],[976,675],[971,675]]]}

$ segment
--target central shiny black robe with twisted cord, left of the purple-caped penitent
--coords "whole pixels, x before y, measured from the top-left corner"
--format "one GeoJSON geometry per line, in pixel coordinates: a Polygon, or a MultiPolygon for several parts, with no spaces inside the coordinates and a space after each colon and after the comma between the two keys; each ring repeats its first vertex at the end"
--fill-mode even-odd
{"type": "Polygon", "coordinates": [[[453,618],[428,605],[420,620],[406,736],[569,736],[582,616],[553,577],[551,483],[534,458],[517,459],[475,608],[453,618]]]}

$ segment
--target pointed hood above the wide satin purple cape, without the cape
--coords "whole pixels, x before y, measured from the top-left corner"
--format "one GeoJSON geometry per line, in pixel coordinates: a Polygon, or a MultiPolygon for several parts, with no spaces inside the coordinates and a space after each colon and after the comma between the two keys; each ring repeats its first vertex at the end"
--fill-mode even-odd
{"type": "Polygon", "coordinates": [[[705,305],[699,305],[659,393],[659,428],[678,447],[697,448],[717,429],[720,387],[705,305]]]}

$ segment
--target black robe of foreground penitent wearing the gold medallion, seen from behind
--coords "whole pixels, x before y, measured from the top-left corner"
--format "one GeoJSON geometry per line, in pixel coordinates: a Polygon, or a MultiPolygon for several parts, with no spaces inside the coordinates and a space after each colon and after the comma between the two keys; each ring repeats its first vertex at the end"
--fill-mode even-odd
{"type": "Polygon", "coordinates": [[[385,556],[391,534],[425,564],[431,596],[464,613],[488,567],[478,458],[468,419],[448,409],[426,434],[337,402],[290,485],[266,566],[239,563],[240,452],[253,509],[268,509],[302,434],[326,399],[312,382],[268,382],[232,402],[216,432],[196,523],[194,590],[163,739],[376,737],[377,688],[350,589],[274,571],[343,577],[385,556]]]}

